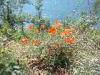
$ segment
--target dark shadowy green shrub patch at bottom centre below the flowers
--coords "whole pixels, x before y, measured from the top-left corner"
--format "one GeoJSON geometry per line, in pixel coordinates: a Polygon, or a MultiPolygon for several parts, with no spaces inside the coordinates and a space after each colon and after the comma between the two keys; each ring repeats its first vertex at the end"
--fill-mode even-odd
{"type": "Polygon", "coordinates": [[[50,72],[56,72],[59,68],[69,70],[72,65],[73,55],[70,55],[72,51],[67,51],[66,48],[55,48],[53,54],[48,54],[44,57],[44,64],[47,65],[47,70],[50,72]]]}

